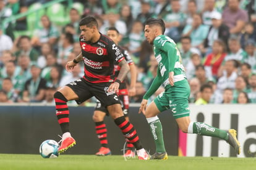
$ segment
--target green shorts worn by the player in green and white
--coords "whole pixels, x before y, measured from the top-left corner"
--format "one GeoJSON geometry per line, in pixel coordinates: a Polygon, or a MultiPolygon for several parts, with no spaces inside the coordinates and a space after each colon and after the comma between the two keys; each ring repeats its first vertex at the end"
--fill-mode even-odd
{"type": "Polygon", "coordinates": [[[158,110],[165,111],[171,109],[175,119],[189,116],[189,83],[182,83],[165,89],[158,95],[154,102],[158,110]]]}

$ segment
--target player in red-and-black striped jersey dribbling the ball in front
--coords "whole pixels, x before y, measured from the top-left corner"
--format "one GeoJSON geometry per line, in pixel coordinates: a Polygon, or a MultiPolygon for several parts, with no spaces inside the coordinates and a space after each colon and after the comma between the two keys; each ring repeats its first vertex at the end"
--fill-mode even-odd
{"type": "Polygon", "coordinates": [[[67,62],[66,70],[72,71],[77,63],[83,61],[84,76],[66,84],[54,94],[56,115],[62,130],[59,153],[65,152],[75,145],[75,139],[69,132],[67,101],[76,100],[77,103],[82,103],[95,96],[106,106],[109,115],[121,129],[122,134],[134,144],[139,160],[148,160],[148,153],[140,144],[139,136],[134,126],[124,118],[121,102],[117,96],[119,84],[126,78],[129,65],[116,44],[98,31],[98,23],[94,17],[82,18],[79,26],[82,52],[74,60],[67,62]],[[116,79],[114,65],[121,67],[116,79]]]}

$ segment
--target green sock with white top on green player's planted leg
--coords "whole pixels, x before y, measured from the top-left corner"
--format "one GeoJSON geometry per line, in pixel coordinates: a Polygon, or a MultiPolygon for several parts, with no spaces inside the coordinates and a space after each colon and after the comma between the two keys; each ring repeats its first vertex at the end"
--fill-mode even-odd
{"type": "Polygon", "coordinates": [[[164,148],[163,140],[163,128],[158,116],[147,118],[148,124],[150,125],[150,130],[153,135],[153,139],[156,145],[156,153],[166,152],[164,148]]]}

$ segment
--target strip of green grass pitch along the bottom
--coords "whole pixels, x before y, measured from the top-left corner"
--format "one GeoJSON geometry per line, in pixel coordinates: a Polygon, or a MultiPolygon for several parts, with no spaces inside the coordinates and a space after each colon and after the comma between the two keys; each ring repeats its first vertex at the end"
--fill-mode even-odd
{"type": "Polygon", "coordinates": [[[168,160],[124,160],[121,155],[60,155],[41,158],[38,155],[0,154],[0,169],[129,169],[129,170],[186,170],[186,169],[256,169],[255,158],[216,158],[169,156],[168,160]]]}

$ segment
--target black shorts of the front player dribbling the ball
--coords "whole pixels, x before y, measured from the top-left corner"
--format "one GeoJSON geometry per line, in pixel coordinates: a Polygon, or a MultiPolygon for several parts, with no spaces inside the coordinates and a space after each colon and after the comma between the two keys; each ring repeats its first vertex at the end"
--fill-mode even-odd
{"type": "Polygon", "coordinates": [[[107,92],[110,84],[111,83],[89,83],[85,81],[85,79],[80,78],[66,84],[66,86],[69,86],[75,94],[78,95],[79,99],[75,100],[78,104],[95,96],[96,99],[100,100],[100,102],[107,107],[109,105],[121,104],[116,93],[107,92]]]}

